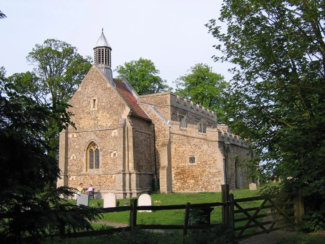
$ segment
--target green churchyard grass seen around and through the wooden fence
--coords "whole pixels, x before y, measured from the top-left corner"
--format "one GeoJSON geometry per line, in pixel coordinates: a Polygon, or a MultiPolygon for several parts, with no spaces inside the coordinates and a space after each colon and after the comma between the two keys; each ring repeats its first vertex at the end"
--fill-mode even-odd
{"type": "MultiPolygon", "coordinates": [[[[269,183],[268,185],[275,185],[272,183],[269,183]]],[[[238,189],[231,191],[230,193],[234,194],[234,198],[243,198],[243,197],[254,197],[258,196],[258,190],[263,188],[265,185],[261,187],[257,187],[256,191],[250,191],[248,188],[238,189]]],[[[160,205],[177,205],[177,204],[185,204],[187,202],[190,203],[209,203],[209,202],[221,202],[221,193],[211,193],[211,192],[200,192],[200,193],[169,193],[169,194],[151,194],[152,201],[160,201],[160,205]]],[[[100,202],[101,206],[103,205],[102,199],[96,199],[96,200],[90,200],[89,206],[90,207],[97,207],[98,201],[100,202]]],[[[130,203],[130,199],[119,199],[120,205],[122,205],[124,202],[130,203]]],[[[76,203],[75,201],[72,201],[72,203],[76,203]]],[[[256,207],[259,206],[262,203],[262,200],[260,201],[251,201],[251,202],[242,202],[240,203],[240,206],[242,208],[250,208],[250,207],[256,207]]],[[[266,211],[262,210],[261,212],[266,211]]],[[[137,224],[179,224],[182,225],[184,223],[184,213],[185,210],[156,210],[152,213],[148,212],[140,212],[137,213],[137,224]]],[[[251,215],[253,213],[251,212],[251,215]]],[[[111,222],[118,222],[118,223],[129,223],[129,211],[123,211],[123,212],[115,212],[115,213],[104,213],[104,217],[101,220],[105,221],[111,221],[111,222]]],[[[235,214],[235,218],[245,217],[244,214],[239,213],[235,214]]],[[[214,210],[211,213],[211,224],[217,224],[221,223],[221,207],[215,207],[214,210]]],[[[244,223],[235,223],[236,226],[243,226],[244,223]]],[[[104,228],[110,228],[110,226],[103,226],[102,224],[98,223],[92,223],[94,229],[104,229],[104,228]]],[[[256,229],[256,228],[255,228],[256,229]]],[[[250,232],[253,232],[254,229],[251,228],[249,230],[246,230],[244,234],[248,234],[250,232]]],[[[181,231],[168,231],[166,235],[175,235],[172,237],[173,240],[169,238],[169,241],[164,242],[164,238],[166,238],[163,233],[157,233],[157,232],[142,232],[141,235],[149,235],[149,242],[146,243],[181,243],[181,231]],[[168,234],[169,233],[169,234],[168,234]],[[174,234],[172,234],[174,233],[174,234]],[[155,241],[154,241],[155,240],[155,241]],[[158,241],[156,241],[158,240],[158,241]]],[[[190,232],[189,232],[190,233],[190,232]]],[[[116,234],[115,236],[111,236],[111,238],[117,238],[119,239],[120,236],[125,237],[126,233],[116,234]]],[[[127,233],[126,236],[130,235],[130,233],[127,233]]],[[[136,237],[130,237],[132,238],[139,238],[139,233],[135,233],[136,237]]],[[[140,235],[140,236],[141,236],[140,235]]],[[[56,238],[55,240],[46,240],[45,243],[108,243],[108,236],[96,236],[96,237],[82,237],[82,238],[72,238],[72,239],[60,239],[56,238]]],[[[144,237],[140,237],[144,238],[144,237]]],[[[147,238],[147,237],[146,237],[147,238]]],[[[191,237],[188,237],[191,238],[191,237]]],[[[200,238],[204,238],[203,236],[200,238]]],[[[199,239],[200,239],[199,238],[199,239]]],[[[112,239],[111,239],[112,240],[112,239]]],[[[144,239],[143,239],[144,240],[144,239]]],[[[146,239],[147,241],[147,239],[146,239]]],[[[119,240],[119,243],[130,243],[130,240],[119,240]]],[[[223,242],[223,241],[221,241],[223,242]]],[[[221,243],[220,242],[220,243],[221,243]]],[[[292,242],[290,240],[290,242],[292,242]]],[[[44,242],[43,242],[44,243],[44,242]]],[[[189,240],[189,242],[191,241],[189,240]]],[[[282,242],[285,243],[285,242],[282,242]]],[[[292,243],[309,243],[309,242],[292,242],[292,243]]],[[[320,242],[314,242],[314,243],[320,243],[320,242]]]]}

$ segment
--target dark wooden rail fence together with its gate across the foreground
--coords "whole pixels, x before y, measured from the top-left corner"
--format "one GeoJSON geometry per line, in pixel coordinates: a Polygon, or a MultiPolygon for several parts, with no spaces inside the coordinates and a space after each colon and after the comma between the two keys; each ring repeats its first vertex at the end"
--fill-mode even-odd
{"type": "MultiPolygon", "coordinates": [[[[201,225],[188,225],[189,213],[191,209],[207,209],[216,206],[222,207],[222,223],[226,224],[228,227],[235,231],[236,238],[246,238],[254,235],[259,235],[263,233],[269,233],[271,231],[287,228],[290,226],[295,226],[299,228],[301,224],[301,216],[304,214],[304,201],[302,197],[301,189],[295,190],[290,193],[282,193],[267,196],[258,197],[246,197],[234,199],[233,194],[229,194],[229,185],[225,184],[221,187],[222,196],[221,202],[213,203],[200,203],[200,204],[181,204],[181,205],[165,205],[165,206],[137,206],[137,199],[131,199],[130,206],[122,206],[115,208],[103,208],[102,213],[109,212],[119,212],[119,211],[130,211],[129,226],[121,228],[113,228],[107,230],[94,230],[86,232],[75,232],[66,233],[60,235],[65,238],[74,237],[89,237],[98,236],[104,234],[111,234],[114,232],[127,231],[134,229],[135,227],[139,229],[182,229],[183,237],[187,235],[188,229],[204,229],[212,228],[217,224],[201,224],[201,225]],[[285,202],[277,203],[276,199],[286,199],[285,202]],[[263,200],[262,204],[258,207],[243,209],[240,206],[242,202],[263,200]],[[266,211],[267,209],[274,209],[275,211],[266,211]],[[137,224],[137,212],[138,210],[175,210],[175,209],[185,209],[184,224],[182,225],[162,225],[162,224],[137,224]],[[263,210],[263,213],[260,213],[263,210]],[[237,216],[235,216],[235,214],[237,216]],[[238,215],[244,215],[241,217],[238,215]],[[273,220],[263,219],[265,217],[273,217],[273,220]],[[260,220],[261,218],[262,221],[260,220]],[[263,222],[264,221],[264,222],[263,222]],[[280,226],[275,226],[276,223],[284,222],[280,226]],[[241,225],[241,223],[244,223],[241,225]],[[261,228],[261,231],[255,231],[249,234],[244,234],[244,231],[249,228],[261,228]]],[[[35,237],[25,237],[21,239],[22,241],[28,241],[35,237]]]]}

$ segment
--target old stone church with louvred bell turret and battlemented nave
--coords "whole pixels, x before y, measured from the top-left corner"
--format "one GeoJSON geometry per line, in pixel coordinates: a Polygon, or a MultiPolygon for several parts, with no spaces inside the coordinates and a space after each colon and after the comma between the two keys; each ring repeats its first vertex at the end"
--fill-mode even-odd
{"type": "Polygon", "coordinates": [[[161,192],[248,187],[239,161],[253,156],[249,144],[199,104],[169,91],[139,96],[114,79],[111,50],[101,33],[94,65],[69,102],[77,129],[60,132],[57,185],[90,183],[97,198],[136,197],[153,182],[161,192]]]}

